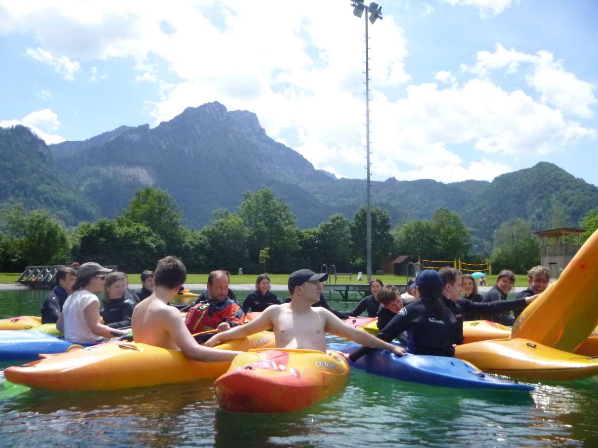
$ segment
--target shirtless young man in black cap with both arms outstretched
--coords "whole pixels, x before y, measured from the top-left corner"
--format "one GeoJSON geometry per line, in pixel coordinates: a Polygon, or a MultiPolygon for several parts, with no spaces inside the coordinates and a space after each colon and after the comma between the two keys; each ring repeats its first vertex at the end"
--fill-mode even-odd
{"type": "Polygon", "coordinates": [[[303,348],[326,351],[326,333],[354,340],[372,348],[386,349],[402,356],[404,349],[389,344],[363,330],[346,325],[327,309],[312,308],[318,302],[318,283],[328,274],[300,269],[289,275],[291,302],[271,305],[260,317],[245,325],[212,336],[206,345],[213,347],[231,339],[240,339],[273,328],[277,348],[303,348]]]}

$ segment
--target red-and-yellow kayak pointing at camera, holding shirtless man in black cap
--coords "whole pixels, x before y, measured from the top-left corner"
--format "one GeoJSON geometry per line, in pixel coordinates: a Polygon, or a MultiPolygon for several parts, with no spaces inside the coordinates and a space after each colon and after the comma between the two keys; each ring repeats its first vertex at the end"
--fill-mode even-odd
{"type": "Polygon", "coordinates": [[[291,412],[335,394],[347,379],[349,365],[334,351],[252,350],[216,379],[216,397],[233,412],[291,412]]]}

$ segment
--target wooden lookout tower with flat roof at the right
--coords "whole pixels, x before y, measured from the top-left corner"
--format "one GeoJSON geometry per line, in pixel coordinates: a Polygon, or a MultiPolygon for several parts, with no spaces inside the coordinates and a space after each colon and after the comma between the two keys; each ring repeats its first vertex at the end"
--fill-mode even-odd
{"type": "Polygon", "coordinates": [[[550,278],[559,278],[563,269],[575,256],[584,229],[562,227],[535,232],[540,238],[540,264],[550,269],[550,278]]]}

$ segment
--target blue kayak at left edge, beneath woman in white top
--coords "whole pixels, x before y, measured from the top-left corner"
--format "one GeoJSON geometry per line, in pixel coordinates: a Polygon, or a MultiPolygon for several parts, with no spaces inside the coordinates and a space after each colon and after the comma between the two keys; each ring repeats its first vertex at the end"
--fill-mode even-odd
{"type": "Polygon", "coordinates": [[[0,361],[32,361],[38,359],[40,353],[62,353],[74,344],[33,330],[0,330],[0,361]]]}

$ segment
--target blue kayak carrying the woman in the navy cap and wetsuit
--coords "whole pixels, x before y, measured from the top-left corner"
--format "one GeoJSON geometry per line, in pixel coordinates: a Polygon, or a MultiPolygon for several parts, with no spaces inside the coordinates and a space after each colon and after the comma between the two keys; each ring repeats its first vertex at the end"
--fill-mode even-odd
{"type": "MultiPolygon", "coordinates": [[[[344,353],[352,353],[359,347],[361,345],[354,342],[346,345],[328,344],[329,349],[344,353]]],[[[535,389],[529,384],[505,381],[492,375],[486,375],[473,364],[446,356],[407,354],[404,357],[399,357],[386,350],[373,350],[355,363],[349,361],[349,365],[355,369],[374,373],[374,375],[435,386],[521,391],[535,389]]]]}

